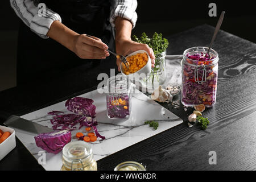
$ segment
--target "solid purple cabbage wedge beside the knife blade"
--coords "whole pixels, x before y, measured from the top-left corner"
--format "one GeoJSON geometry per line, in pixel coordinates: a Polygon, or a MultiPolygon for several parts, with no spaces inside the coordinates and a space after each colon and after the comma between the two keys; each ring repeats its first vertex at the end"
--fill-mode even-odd
{"type": "Polygon", "coordinates": [[[53,154],[59,153],[65,144],[71,142],[71,131],[61,130],[50,133],[42,133],[34,137],[36,146],[51,152],[53,154]]]}

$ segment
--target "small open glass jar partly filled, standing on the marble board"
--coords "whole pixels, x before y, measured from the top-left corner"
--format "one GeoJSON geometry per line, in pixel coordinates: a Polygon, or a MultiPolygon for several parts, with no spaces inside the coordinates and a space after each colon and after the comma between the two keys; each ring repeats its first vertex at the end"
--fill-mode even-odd
{"type": "Polygon", "coordinates": [[[106,96],[107,115],[110,119],[129,119],[131,114],[131,85],[126,76],[117,75],[108,80],[106,96]]]}

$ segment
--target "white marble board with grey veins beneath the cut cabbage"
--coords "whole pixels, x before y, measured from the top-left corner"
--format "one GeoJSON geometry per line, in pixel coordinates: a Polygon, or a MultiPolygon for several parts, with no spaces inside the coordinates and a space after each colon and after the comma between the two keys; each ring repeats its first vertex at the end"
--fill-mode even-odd
{"type": "MultiPolygon", "coordinates": [[[[94,90],[82,94],[80,97],[91,98],[94,100],[93,104],[96,105],[96,120],[98,122],[97,129],[101,135],[106,137],[105,140],[98,138],[96,142],[90,143],[94,159],[96,160],[105,158],[110,154],[141,142],[144,139],[152,137],[153,135],[161,133],[162,131],[170,129],[183,122],[182,119],[171,113],[171,111],[160,106],[155,101],[150,100],[141,92],[133,94],[131,101],[131,115],[126,121],[112,120],[107,117],[106,94],[99,94],[97,90],[94,90]],[[152,127],[144,125],[144,122],[147,120],[158,121],[158,129],[152,130],[152,127]]],[[[48,115],[47,113],[52,110],[68,113],[67,109],[65,109],[65,101],[63,101],[32,113],[22,115],[21,117],[37,122],[40,125],[51,127],[52,124],[49,119],[52,118],[52,115],[48,115]]],[[[72,140],[77,140],[75,134],[79,131],[85,133],[85,126],[80,130],[72,131],[72,140]]],[[[38,152],[43,150],[36,146],[34,135],[16,129],[15,132],[16,136],[22,141],[24,146],[26,146],[31,154],[38,159],[41,156],[38,155],[38,152]]],[[[46,170],[60,170],[62,166],[61,154],[61,152],[56,155],[46,152],[46,164],[42,164],[42,166],[46,170]]],[[[125,156],[123,160],[125,160],[125,156]]]]}

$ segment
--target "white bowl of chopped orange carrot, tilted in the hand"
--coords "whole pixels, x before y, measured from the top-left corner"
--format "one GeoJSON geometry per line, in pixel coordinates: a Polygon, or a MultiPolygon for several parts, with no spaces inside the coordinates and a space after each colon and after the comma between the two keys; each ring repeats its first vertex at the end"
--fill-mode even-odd
{"type": "MultiPolygon", "coordinates": [[[[144,53],[147,51],[144,51],[144,50],[139,50],[139,51],[135,51],[133,53],[131,53],[130,55],[126,56],[126,57],[129,57],[129,56],[133,56],[133,55],[136,55],[137,53],[144,53]]],[[[120,65],[120,68],[121,68],[121,73],[123,75],[125,75],[125,73],[123,73],[123,64],[121,63],[120,65]]],[[[144,67],[142,67],[141,69],[139,69],[137,72],[134,72],[134,73],[130,73],[129,75],[125,75],[129,78],[133,78],[134,80],[137,80],[136,78],[144,78],[144,77],[147,77],[148,74],[150,74],[151,72],[151,59],[150,59],[150,56],[148,55],[147,53],[147,64],[144,65],[144,67]],[[143,74],[144,73],[144,74],[143,74]],[[139,77],[138,77],[138,75],[139,77]],[[136,75],[136,76],[135,76],[136,75]]]]}

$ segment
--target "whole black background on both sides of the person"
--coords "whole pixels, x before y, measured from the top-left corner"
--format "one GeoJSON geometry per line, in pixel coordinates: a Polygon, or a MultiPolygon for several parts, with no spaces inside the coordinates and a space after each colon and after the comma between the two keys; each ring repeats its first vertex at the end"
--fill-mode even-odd
{"type": "MultiPolygon", "coordinates": [[[[256,7],[253,1],[153,1],[138,0],[138,21],[133,34],[152,35],[162,32],[167,37],[200,24],[216,26],[221,11],[225,18],[221,29],[256,43],[256,7]],[[217,17],[209,17],[209,3],[217,5],[217,17]]],[[[16,42],[19,23],[9,1],[0,6],[0,91],[16,85],[16,42]]],[[[34,34],[31,32],[31,34],[34,34]]],[[[210,42],[210,40],[209,40],[210,42]]],[[[181,52],[182,53],[182,52],[181,52]]]]}

